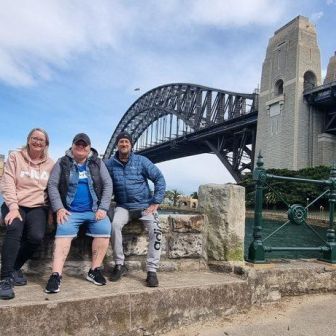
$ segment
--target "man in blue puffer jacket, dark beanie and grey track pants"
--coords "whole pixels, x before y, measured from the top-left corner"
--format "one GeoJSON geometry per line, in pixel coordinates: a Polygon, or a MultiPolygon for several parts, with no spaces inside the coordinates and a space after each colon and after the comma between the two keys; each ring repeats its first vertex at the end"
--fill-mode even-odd
{"type": "Polygon", "coordinates": [[[149,246],[147,254],[148,287],[157,287],[156,270],[160,261],[162,230],[157,209],[163,201],[166,183],[160,170],[146,157],[132,152],[132,138],[127,132],[117,136],[116,154],[105,162],[112,177],[113,191],[117,203],[112,227],[112,245],[115,267],[111,281],[118,281],[127,274],[122,246],[121,230],[131,219],[140,219],[148,229],[149,246]],[[154,183],[152,195],[148,180],[154,183]]]}

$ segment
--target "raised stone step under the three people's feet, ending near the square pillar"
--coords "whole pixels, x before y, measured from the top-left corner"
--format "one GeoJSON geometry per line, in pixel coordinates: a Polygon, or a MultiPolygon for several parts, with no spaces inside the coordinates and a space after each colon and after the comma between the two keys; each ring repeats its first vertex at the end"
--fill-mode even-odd
{"type": "Polygon", "coordinates": [[[46,277],[30,276],[0,300],[6,335],[159,335],[164,330],[250,306],[247,281],[216,272],[160,272],[160,287],[145,287],[146,273],[95,286],[64,276],[61,291],[45,294],[46,277]]]}

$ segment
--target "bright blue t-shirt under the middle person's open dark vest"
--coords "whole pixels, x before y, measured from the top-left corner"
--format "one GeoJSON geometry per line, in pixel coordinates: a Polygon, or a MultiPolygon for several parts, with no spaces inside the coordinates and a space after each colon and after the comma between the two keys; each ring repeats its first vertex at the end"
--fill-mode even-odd
{"type": "Polygon", "coordinates": [[[74,212],[92,211],[92,196],[89,189],[86,164],[77,165],[77,167],[79,179],[75,198],[71,203],[70,210],[74,212]]]}

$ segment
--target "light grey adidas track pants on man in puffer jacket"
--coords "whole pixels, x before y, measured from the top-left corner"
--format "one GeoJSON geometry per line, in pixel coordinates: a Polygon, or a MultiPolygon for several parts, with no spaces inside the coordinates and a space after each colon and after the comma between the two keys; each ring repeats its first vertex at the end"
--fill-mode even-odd
{"type": "MultiPolygon", "coordinates": [[[[132,212],[132,210],[131,210],[132,212]]],[[[146,229],[148,230],[148,252],[147,252],[147,271],[156,272],[159,266],[160,254],[161,254],[161,240],[162,240],[162,230],[159,224],[157,214],[144,215],[139,210],[138,219],[140,219],[146,229]]],[[[114,211],[114,217],[112,221],[112,247],[114,253],[115,263],[121,265],[124,263],[125,256],[122,245],[122,234],[121,230],[126,225],[132,217],[132,213],[129,210],[116,207],[114,211]]]]}

